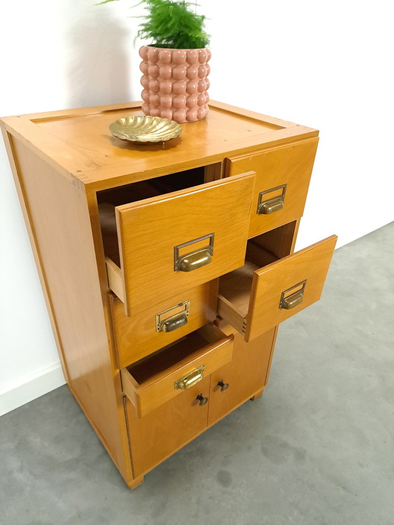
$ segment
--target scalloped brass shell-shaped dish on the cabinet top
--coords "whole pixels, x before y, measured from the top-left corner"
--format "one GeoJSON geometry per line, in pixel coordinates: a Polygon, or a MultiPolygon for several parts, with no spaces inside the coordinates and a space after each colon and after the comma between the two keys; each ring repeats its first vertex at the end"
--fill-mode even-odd
{"type": "Polygon", "coordinates": [[[174,120],[160,117],[127,117],[110,124],[114,137],[132,142],[162,142],[178,137],[182,127],[174,120]]]}

